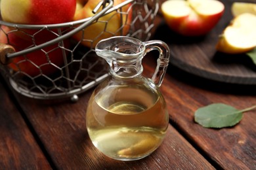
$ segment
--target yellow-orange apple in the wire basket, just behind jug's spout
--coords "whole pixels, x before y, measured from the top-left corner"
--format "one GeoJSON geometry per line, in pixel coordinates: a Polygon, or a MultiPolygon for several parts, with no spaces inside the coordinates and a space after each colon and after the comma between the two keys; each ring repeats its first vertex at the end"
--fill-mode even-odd
{"type": "MultiPolygon", "coordinates": [[[[93,10],[101,0],[88,0],[83,9],[75,13],[74,20],[82,20],[94,16],[93,10]]],[[[125,0],[115,0],[114,7],[123,3],[125,0]]],[[[74,39],[89,48],[95,48],[96,43],[101,39],[106,39],[114,35],[127,35],[132,20],[131,4],[118,9],[119,12],[111,12],[98,19],[84,30],[74,35],[74,39]]]]}

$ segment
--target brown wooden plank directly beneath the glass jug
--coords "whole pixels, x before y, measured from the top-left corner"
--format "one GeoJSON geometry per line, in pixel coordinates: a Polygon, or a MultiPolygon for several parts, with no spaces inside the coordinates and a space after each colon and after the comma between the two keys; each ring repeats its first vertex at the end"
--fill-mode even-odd
{"type": "Polygon", "coordinates": [[[83,93],[77,103],[43,104],[18,96],[22,109],[58,169],[214,169],[171,126],[160,148],[142,160],[116,161],[104,156],[91,143],[85,125],[91,92],[83,93]]]}

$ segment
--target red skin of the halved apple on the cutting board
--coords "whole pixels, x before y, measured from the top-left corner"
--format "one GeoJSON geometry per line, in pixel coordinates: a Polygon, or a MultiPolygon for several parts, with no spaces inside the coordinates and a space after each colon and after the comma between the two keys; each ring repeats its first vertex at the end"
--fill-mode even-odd
{"type": "MultiPolygon", "coordinates": [[[[172,1],[172,0],[171,0],[172,1]]],[[[163,16],[167,25],[175,32],[184,36],[201,36],[207,34],[219,22],[224,13],[223,9],[215,14],[203,14],[191,7],[188,0],[184,3],[190,7],[190,12],[183,16],[172,16],[163,12],[163,16]]],[[[202,0],[209,1],[209,0],[202,0]]],[[[200,2],[200,1],[199,1],[200,2]]],[[[220,2],[221,3],[221,2],[220,2]]],[[[221,3],[222,4],[222,3],[221,3]]],[[[196,6],[196,5],[195,5],[196,6]]],[[[211,6],[209,6],[211,7],[211,6]]],[[[163,8],[162,8],[163,10],[163,8]]]]}

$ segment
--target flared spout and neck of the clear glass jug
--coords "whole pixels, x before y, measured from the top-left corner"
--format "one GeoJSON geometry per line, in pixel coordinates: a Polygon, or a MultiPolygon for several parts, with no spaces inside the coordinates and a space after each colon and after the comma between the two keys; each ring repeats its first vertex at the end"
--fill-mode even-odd
{"type": "Polygon", "coordinates": [[[133,78],[142,73],[144,43],[132,37],[118,36],[96,44],[95,52],[110,65],[114,76],[133,78]]]}

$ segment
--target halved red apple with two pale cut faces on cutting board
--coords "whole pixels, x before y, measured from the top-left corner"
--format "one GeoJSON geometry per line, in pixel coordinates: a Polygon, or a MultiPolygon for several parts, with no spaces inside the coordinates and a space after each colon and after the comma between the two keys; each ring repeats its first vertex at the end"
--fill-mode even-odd
{"type": "Polygon", "coordinates": [[[224,5],[217,0],[169,0],[161,5],[167,25],[184,36],[205,35],[223,16],[224,5]]]}

